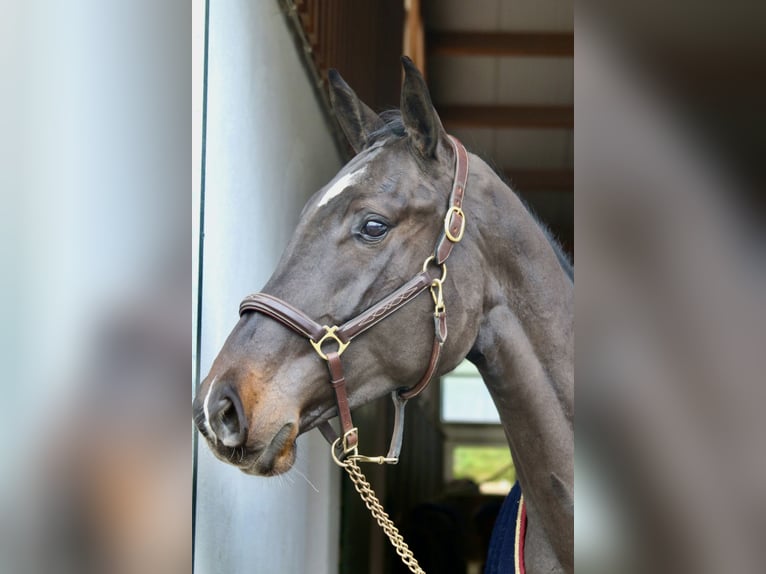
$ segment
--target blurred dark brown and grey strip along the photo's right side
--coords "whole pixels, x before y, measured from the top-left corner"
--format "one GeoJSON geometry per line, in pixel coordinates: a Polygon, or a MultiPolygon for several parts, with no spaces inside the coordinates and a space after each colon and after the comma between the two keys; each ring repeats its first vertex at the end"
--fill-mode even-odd
{"type": "Polygon", "coordinates": [[[578,571],[766,563],[764,15],[577,6],[578,571]]]}

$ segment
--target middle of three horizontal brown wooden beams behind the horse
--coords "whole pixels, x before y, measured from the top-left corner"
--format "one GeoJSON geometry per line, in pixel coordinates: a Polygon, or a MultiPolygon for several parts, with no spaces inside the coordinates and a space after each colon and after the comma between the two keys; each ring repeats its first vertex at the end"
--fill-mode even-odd
{"type": "Polygon", "coordinates": [[[436,106],[449,128],[574,128],[573,106],[436,106]]]}

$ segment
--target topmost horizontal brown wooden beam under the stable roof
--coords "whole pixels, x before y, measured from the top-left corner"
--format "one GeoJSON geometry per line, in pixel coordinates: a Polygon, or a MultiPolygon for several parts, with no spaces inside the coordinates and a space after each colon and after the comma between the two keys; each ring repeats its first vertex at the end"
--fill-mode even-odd
{"type": "Polygon", "coordinates": [[[429,31],[426,46],[435,56],[573,56],[573,32],[429,31]]]}

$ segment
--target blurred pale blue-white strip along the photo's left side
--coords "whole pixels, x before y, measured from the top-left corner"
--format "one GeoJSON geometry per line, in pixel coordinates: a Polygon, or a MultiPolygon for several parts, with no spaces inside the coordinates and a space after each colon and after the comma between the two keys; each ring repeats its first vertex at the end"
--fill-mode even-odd
{"type": "Polygon", "coordinates": [[[3,2],[0,572],[191,570],[190,27],[3,2]]]}

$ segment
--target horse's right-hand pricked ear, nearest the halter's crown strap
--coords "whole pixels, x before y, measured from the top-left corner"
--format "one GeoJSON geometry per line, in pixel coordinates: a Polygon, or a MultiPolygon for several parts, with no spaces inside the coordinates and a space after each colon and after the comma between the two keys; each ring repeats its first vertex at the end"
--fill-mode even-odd
{"type": "Polygon", "coordinates": [[[431,103],[431,95],[422,74],[407,56],[402,56],[402,64],[404,84],[401,108],[404,127],[423,157],[435,157],[439,141],[446,140],[447,133],[431,103]]]}

